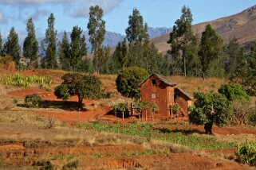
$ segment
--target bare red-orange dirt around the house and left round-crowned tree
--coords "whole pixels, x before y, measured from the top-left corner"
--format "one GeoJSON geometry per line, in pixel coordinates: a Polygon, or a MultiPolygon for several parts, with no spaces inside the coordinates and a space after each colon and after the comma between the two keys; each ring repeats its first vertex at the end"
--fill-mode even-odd
{"type": "MultiPolygon", "coordinates": [[[[20,91],[11,91],[8,95],[18,96],[18,97],[25,97],[26,95],[34,94],[41,95],[41,97],[45,100],[49,101],[61,101],[61,99],[57,99],[57,97],[51,91],[43,91],[37,89],[26,89],[20,91]]],[[[77,102],[77,97],[73,96],[69,101],[77,102]]],[[[91,106],[93,109],[90,110],[81,110],[80,118],[78,111],[69,111],[69,110],[60,110],[57,112],[53,111],[36,111],[34,114],[40,114],[42,116],[53,117],[57,118],[62,122],[85,122],[95,120],[98,117],[101,120],[119,120],[121,118],[116,118],[114,115],[107,115],[107,113],[112,110],[109,106],[93,106],[93,100],[84,99],[85,106],[91,106]]],[[[126,118],[125,122],[130,121],[130,118],[126,118]]],[[[183,122],[183,118],[179,118],[177,122],[183,122]]],[[[183,125],[174,125],[171,126],[171,129],[184,129],[183,125]]],[[[200,132],[204,132],[203,126],[194,126],[194,125],[187,125],[187,130],[199,130],[200,132]]],[[[213,127],[213,133],[221,134],[221,135],[238,135],[238,134],[256,134],[255,129],[250,129],[248,126],[232,126],[232,127],[222,127],[219,128],[217,126],[213,127]]]]}

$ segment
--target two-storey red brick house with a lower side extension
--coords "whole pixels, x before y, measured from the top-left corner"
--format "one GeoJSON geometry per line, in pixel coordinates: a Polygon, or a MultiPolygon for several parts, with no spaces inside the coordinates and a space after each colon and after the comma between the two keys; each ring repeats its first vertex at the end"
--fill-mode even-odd
{"type": "MultiPolygon", "coordinates": [[[[180,88],[175,88],[177,83],[163,75],[152,74],[140,83],[141,101],[156,103],[160,110],[155,113],[156,118],[170,118],[169,105],[178,104],[183,116],[187,114],[187,107],[191,106],[191,96],[180,88]]],[[[151,118],[151,110],[148,110],[148,118],[151,118]]],[[[145,118],[145,110],[142,112],[145,118]]]]}

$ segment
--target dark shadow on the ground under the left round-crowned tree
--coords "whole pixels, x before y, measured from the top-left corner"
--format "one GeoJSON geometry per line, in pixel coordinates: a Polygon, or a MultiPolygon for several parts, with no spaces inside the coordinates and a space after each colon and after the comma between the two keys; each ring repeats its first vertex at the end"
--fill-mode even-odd
{"type": "MultiPolygon", "coordinates": [[[[18,106],[26,107],[25,104],[18,104],[18,106]]],[[[85,106],[83,104],[83,106],[85,106]]],[[[40,103],[40,108],[51,108],[51,109],[61,109],[61,110],[69,110],[69,111],[86,111],[83,106],[81,106],[78,102],[70,102],[70,101],[55,101],[55,100],[45,100],[40,103]]]]}

